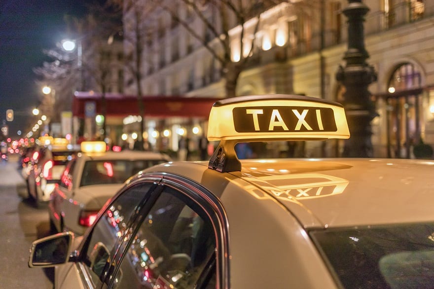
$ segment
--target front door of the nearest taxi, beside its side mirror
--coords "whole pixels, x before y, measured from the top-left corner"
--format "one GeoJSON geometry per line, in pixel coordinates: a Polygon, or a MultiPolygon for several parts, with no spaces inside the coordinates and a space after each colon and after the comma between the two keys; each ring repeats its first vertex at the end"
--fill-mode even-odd
{"type": "Polygon", "coordinates": [[[131,232],[146,196],[156,186],[154,181],[132,185],[119,193],[102,210],[94,226],[84,235],[78,249],[78,260],[68,270],[56,276],[56,287],[80,284],[83,288],[107,287],[104,280],[124,238],[131,232]]]}

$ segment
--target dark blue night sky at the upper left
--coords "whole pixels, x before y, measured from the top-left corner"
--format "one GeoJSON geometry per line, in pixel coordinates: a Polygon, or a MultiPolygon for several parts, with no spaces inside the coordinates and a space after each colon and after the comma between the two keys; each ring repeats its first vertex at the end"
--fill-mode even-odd
{"type": "MultiPolygon", "coordinates": [[[[33,68],[47,57],[43,49],[67,37],[64,15],[83,15],[85,0],[0,0],[0,125],[6,109],[14,109],[14,121],[6,122],[10,136],[23,133],[41,88],[33,68]]],[[[89,2],[89,1],[87,1],[89,2]]]]}

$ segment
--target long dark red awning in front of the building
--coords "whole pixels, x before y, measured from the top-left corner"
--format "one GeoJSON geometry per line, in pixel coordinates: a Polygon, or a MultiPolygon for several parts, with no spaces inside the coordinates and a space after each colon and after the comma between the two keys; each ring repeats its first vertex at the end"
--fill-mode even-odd
{"type": "MultiPolygon", "coordinates": [[[[145,116],[208,118],[211,107],[221,98],[144,96],[145,116]]],[[[139,115],[137,96],[107,93],[106,117],[139,115]]],[[[72,115],[79,118],[102,114],[101,94],[76,92],[72,100],[72,115]],[[87,110],[87,111],[86,111],[87,110]]]]}

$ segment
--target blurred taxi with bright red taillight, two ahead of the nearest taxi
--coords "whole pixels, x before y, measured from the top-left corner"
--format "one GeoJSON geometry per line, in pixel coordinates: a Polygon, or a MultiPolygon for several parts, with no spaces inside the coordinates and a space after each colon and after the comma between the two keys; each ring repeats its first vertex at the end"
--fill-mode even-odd
{"type": "Polygon", "coordinates": [[[62,138],[40,137],[33,152],[26,179],[28,195],[36,207],[46,205],[66,164],[79,152],[79,147],[62,138]]]}

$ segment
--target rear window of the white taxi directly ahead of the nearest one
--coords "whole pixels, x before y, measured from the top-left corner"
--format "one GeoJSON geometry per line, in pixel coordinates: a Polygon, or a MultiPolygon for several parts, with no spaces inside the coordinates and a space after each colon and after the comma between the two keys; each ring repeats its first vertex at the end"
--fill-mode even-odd
{"type": "Polygon", "coordinates": [[[84,164],[80,186],[123,183],[134,174],[165,160],[91,160],[84,164]]]}

